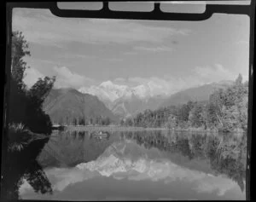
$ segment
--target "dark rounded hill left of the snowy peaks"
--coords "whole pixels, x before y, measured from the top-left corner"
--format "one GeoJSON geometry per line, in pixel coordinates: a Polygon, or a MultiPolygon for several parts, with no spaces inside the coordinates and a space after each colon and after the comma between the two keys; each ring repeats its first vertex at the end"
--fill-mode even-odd
{"type": "Polygon", "coordinates": [[[110,118],[113,113],[94,95],[82,94],[76,89],[52,89],[44,101],[44,111],[54,124],[73,124],[76,119],[110,118]]]}

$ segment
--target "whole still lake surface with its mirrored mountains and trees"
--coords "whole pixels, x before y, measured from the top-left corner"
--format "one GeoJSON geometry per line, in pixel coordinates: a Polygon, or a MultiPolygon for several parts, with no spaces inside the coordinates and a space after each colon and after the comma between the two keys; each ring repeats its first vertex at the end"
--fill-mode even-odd
{"type": "Polygon", "coordinates": [[[56,131],[9,153],[9,199],[246,199],[246,136],[56,131]]]}

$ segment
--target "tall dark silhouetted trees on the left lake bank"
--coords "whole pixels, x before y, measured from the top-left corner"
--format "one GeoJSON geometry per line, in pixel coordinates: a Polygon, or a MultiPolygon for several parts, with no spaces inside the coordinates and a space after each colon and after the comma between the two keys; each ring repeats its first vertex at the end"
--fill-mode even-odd
{"type": "Polygon", "coordinates": [[[28,89],[23,78],[28,68],[24,57],[29,55],[28,43],[22,32],[13,32],[9,123],[21,123],[32,132],[49,134],[51,122],[49,115],[44,113],[42,104],[55,83],[55,77],[39,78],[32,88],[28,89]]]}

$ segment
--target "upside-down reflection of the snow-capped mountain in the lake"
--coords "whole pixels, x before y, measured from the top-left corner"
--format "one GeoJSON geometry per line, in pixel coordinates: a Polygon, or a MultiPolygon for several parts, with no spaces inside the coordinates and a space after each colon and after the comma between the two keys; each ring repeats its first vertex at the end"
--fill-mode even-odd
{"type": "MultiPolygon", "coordinates": [[[[129,177],[130,179],[151,179],[153,181],[172,178],[172,180],[191,176],[207,176],[201,170],[191,170],[166,159],[159,150],[148,151],[132,141],[114,142],[101,156],[88,163],[76,165],[79,170],[96,171],[101,176],[129,177]],[[189,175],[194,173],[194,175],[189,175]]],[[[210,173],[211,174],[211,173],[210,173]]],[[[190,178],[188,178],[190,177],[190,178]]],[[[171,179],[170,179],[171,180],[171,179]]]]}

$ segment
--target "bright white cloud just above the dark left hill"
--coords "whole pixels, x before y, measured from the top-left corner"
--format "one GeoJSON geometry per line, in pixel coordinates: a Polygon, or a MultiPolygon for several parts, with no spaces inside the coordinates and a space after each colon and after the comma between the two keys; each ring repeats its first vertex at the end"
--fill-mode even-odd
{"type": "Polygon", "coordinates": [[[86,78],[76,72],[71,72],[66,66],[55,66],[56,73],[55,88],[74,88],[79,89],[82,86],[90,85],[95,82],[92,78],[86,78]]]}

